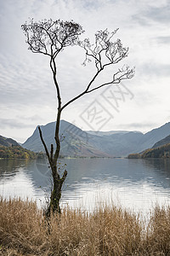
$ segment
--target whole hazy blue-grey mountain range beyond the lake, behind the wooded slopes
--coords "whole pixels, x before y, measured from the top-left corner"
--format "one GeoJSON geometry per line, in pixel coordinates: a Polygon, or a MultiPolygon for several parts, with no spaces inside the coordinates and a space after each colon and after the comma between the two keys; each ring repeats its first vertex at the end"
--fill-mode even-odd
{"type": "MultiPolygon", "coordinates": [[[[41,125],[41,129],[43,138],[50,148],[51,143],[54,143],[55,122],[41,125]]],[[[99,131],[96,133],[82,131],[76,125],[61,120],[59,134],[60,154],[63,156],[118,157],[152,148],[155,143],[170,135],[170,123],[145,134],[139,131],[99,131]]],[[[37,128],[22,146],[35,152],[43,151],[37,128]]]]}

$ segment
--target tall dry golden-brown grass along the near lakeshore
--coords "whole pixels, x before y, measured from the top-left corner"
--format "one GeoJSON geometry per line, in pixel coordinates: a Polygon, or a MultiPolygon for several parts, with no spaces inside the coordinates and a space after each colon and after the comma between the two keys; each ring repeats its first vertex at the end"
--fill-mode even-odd
{"type": "Polygon", "coordinates": [[[141,216],[117,207],[64,209],[48,223],[34,202],[0,201],[0,255],[170,255],[170,207],[141,216]]]}

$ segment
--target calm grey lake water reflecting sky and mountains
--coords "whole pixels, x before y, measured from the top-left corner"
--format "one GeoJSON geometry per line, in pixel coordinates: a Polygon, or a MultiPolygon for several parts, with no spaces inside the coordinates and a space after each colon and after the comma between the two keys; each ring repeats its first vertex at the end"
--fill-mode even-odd
{"type": "MultiPolygon", "coordinates": [[[[62,204],[91,211],[104,202],[135,211],[170,203],[170,160],[67,159],[62,204]]],[[[45,160],[0,160],[0,195],[37,200],[51,188],[45,160]]]]}

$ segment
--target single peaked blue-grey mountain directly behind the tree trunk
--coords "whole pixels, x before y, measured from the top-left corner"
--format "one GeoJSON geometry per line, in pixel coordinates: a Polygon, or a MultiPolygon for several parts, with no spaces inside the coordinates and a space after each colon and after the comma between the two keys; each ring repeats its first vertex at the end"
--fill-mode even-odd
{"type": "MultiPolygon", "coordinates": [[[[47,143],[48,149],[54,142],[54,130],[55,122],[47,125],[41,125],[42,136],[44,141],[47,143]]],[[[88,142],[90,135],[87,132],[82,131],[76,125],[72,125],[65,120],[60,121],[59,137],[61,141],[60,155],[62,156],[95,156],[95,157],[108,157],[111,156],[99,148],[95,148],[91,143],[88,142]]],[[[33,132],[32,136],[29,137],[25,143],[22,144],[23,148],[30,149],[35,152],[44,151],[42,142],[39,137],[38,126],[33,132]]]]}

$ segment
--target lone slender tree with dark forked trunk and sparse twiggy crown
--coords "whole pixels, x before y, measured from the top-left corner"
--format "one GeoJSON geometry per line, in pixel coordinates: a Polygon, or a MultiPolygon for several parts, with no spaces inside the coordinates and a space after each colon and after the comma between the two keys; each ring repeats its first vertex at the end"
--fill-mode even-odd
{"type": "Polygon", "coordinates": [[[109,84],[119,84],[123,79],[133,78],[134,68],[130,69],[128,66],[123,66],[121,69],[118,68],[116,73],[112,74],[109,81],[94,85],[94,82],[99,77],[100,73],[104,72],[107,67],[111,67],[111,65],[122,61],[128,55],[128,48],[122,46],[120,39],[112,42],[112,38],[116,34],[117,30],[114,32],[108,32],[108,30],[105,29],[104,31],[96,32],[95,42],[94,44],[91,44],[88,38],[83,41],[80,40],[79,36],[83,33],[82,26],[75,23],[73,20],[63,21],[50,19],[35,22],[32,19],[29,23],[26,22],[22,25],[21,28],[26,35],[26,43],[29,45],[28,49],[31,49],[33,53],[40,53],[48,56],[49,67],[52,71],[54,85],[57,91],[58,110],[54,134],[56,143],[55,148],[54,145],[51,144],[50,151],[48,151],[46,143],[42,137],[42,131],[40,127],[38,127],[40,138],[47,154],[53,176],[53,189],[50,197],[50,205],[47,211],[47,214],[49,215],[51,211],[60,212],[59,200],[61,197],[61,189],[67,175],[67,171],[65,170],[62,176],[59,176],[59,170],[57,169],[60,151],[59,121],[61,112],[64,108],[69,106],[71,102],[75,102],[78,98],[94,90],[98,90],[99,88],[109,84]],[[90,82],[85,86],[82,93],[72,98],[69,102],[66,102],[65,105],[62,105],[60,88],[57,80],[58,69],[56,57],[63,49],[73,45],[77,45],[84,49],[86,57],[83,65],[86,66],[88,61],[94,61],[96,72],[90,82]]]}

